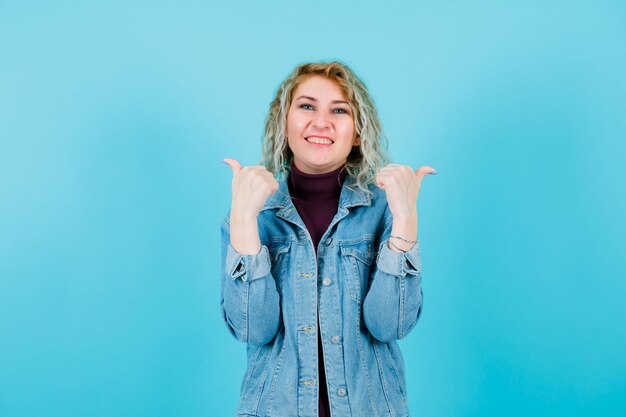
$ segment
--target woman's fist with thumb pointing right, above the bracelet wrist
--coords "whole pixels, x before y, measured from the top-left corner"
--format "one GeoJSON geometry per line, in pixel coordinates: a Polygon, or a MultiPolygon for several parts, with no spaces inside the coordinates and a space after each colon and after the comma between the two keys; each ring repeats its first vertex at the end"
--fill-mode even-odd
{"type": "Polygon", "coordinates": [[[413,171],[408,165],[389,164],[376,174],[376,185],[385,191],[389,210],[394,217],[411,216],[417,211],[417,197],[426,174],[436,174],[429,166],[413,171]]]}

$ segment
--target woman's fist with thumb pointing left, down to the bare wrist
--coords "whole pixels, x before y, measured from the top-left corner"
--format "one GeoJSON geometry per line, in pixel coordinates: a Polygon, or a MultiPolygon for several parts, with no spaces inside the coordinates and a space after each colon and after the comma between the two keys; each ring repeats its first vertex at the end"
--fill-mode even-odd
{"type": "Polygon", "coordinates": [[[233,171],[231,215],[256,218],[268,197],[278,190],[278,181],[264,166],[242,167],[231,158],[224,162],[233,171]]]}

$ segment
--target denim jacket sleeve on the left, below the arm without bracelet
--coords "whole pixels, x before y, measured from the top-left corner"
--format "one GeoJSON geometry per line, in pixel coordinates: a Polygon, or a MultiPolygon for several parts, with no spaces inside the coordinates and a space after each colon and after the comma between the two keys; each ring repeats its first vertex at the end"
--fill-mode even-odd
{"type": "Polygon", "coordinates": [[[270,272],[269,252],[263,245],[256,255],[242,255],[230,244],[228,218],[221,229],[222,316],[237,340],[264,345],[280,325],[280,296],[270,272]]]}

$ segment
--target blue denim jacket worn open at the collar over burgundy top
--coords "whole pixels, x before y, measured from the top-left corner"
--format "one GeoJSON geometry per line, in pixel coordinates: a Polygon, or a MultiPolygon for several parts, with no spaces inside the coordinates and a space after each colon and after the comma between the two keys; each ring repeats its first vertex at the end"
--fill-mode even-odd
{"type": "Polygon", "coordinates": [[[222,312],[248,352],[239,416],[318,417],[318,319],[333,417],[409,416],[396,340],[421,312],[419,243],[390,250],[384,191],[354,182],[317,256],[286,179],[258,216],[258,254],[237,253],[222,224],[222,312]]]}

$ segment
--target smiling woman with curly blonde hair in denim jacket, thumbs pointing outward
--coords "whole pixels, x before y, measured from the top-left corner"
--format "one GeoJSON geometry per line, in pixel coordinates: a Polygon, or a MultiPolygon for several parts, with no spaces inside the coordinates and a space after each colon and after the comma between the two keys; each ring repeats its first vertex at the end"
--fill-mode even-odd
{"type": "Polygon", "coordinates": [[[421,311],[417,196],[436,172],[388,160],[367,88],[339,62],[280,85],[262,166],[224,160],[222,311],[248,352],[239,416],[409,414],[396,340],[421,311]]]}

